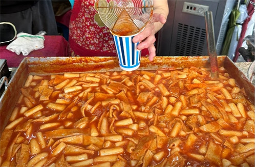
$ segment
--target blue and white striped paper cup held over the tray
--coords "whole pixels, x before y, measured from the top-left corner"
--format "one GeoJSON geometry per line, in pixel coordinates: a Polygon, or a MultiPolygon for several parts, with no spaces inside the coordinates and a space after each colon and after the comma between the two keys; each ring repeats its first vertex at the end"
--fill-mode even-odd
{"type": "MultiPolygon", "coordinates": [[[[111,31],[110,31],[111,32],[111,31]]],[[[140,42],[134,43],[131,36],[118,36],[111,32],[116,46],[119,66],[125,71],[133,71],[140,67],[141,50],[137,50],[140,42]]]]}

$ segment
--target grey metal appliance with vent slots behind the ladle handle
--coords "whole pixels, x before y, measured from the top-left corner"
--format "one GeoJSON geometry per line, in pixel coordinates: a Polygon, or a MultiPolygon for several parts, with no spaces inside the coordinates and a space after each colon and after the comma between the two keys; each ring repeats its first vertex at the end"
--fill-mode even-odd
{"type": "Polygon", "coordinates": [[[236,5],[235,0],[169,0],[169,15],[157,36],[157,55],[207,55],[204,16],[193,14],[204,13],[205,9],[200,8],[200,5],[207,6],[208,10],[212,11],[216,49],[220,54],[228,17],[236,5]],[[185,8],[194,11],[185,13],[185,8]]]}

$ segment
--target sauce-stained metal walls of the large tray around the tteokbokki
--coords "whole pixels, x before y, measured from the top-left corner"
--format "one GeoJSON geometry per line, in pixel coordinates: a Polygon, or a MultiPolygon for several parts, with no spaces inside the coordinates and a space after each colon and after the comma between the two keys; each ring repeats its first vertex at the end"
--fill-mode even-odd
{"type": "MultiPolygon", "coordinates": [[[[156,57],[153,62],[141,59],[138,70],[157,70],[166,67],[209,67],[208,56],[198,57],[156,57]]],[[[218,56],[219,67],[223,66],[238,85],[245,89],[249,100],[254,104],[254,86],[236,65],[226,56],[218,56]]],[[[30,74],[48,75],[65,72],[105,72],[121,71],[115,57],[58,57],[25,58],[9,82],[9,88],[0,98],[0,134],[8,123],[11,112],[19,97],[20,89],[30,74]]]]}

